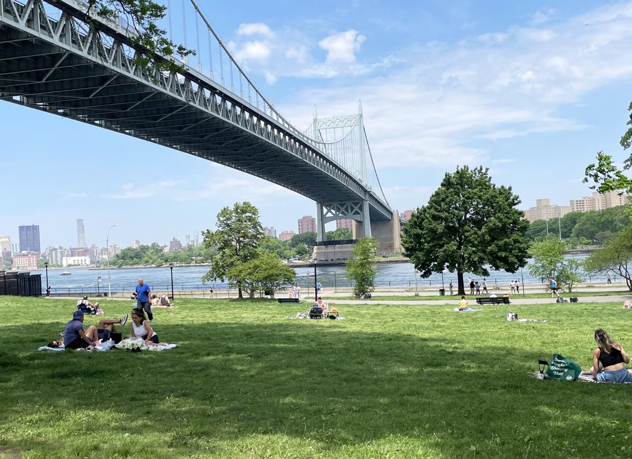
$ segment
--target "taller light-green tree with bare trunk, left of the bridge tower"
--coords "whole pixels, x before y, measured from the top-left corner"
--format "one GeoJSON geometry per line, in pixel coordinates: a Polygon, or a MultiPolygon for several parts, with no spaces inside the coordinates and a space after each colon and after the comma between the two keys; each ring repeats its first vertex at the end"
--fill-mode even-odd
{"type": "Polygon", "coordinates": [[[235,203],[232,209],[224,207],[217,214],[216,227],[215,231],[202,232],[205,246],[217,249],[202,282],[218,279],[224,282],[229,278],[238,288],[239,297],[243,298],[243,283],[236,278],[231,279],[228,273],[235,266],[257,258],[257,247],[264,238],[259,211],[248,201],[235,203]]]}

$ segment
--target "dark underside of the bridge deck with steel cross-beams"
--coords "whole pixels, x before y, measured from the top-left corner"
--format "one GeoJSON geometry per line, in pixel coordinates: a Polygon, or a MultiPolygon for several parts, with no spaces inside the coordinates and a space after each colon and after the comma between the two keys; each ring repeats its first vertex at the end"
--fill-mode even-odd
{"type": "MultiPolygon", "coordinates": [[[[175,148],[320,203],[359,198],[335,177],[240,126],[1,24],[0,98],[175,148]]],[[[390,217],[382,208],[370,213],[371,220],[390,217]]]]}

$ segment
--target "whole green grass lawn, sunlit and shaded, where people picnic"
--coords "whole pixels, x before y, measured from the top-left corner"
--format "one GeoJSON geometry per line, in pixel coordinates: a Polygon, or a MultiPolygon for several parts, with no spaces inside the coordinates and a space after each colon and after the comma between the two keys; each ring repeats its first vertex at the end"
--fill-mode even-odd
{"type": "MultiPolygon", "coordinates": [[[[103,302],[106,318],[130,303],[103,302]]],[[[286,315],[306,304],[181,300],[154,321],[178,349],[37,352],[73,304],[0,297],[0,456],[632,456],[631,387],[528,375],[554,352],[587,369],[597,327],[632,349],[632,313],[614,304],[352,305],[345,321],[300,321],[286,315]]]]}

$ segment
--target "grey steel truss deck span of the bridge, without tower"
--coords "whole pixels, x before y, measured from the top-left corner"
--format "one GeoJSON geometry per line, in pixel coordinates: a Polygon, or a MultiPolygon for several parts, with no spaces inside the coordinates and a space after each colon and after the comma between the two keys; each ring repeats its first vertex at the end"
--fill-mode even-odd
{"type": "Polygon", "coordinates": [[[357,219],[392,218],[366,170],[343,167],[331,145],[289,124],[265,99],[258,108],[188,65],[148,75],[134,64],[131,33],[101,18],[88,25],[86,11],[75,0],[0,0],[2,100],[247,172],[327,209],[360,203],[357,219]]]}

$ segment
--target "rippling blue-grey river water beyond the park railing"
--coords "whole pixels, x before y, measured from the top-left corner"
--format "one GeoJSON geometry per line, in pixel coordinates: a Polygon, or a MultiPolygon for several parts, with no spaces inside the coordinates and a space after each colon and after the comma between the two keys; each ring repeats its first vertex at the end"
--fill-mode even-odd
{"type": "MultiPolygon", "coordinates": [[[[571,255],[573,258],[583,259],[586,256],[571,255]]],[[[208,266],[175,266],[173,268],[173,284],[174,289],[188,290],[188,289],[207,289],[208,286],[202,284],[202,276],[207,272],[208,266]]],[[[307,287],[313,285],[313,267],[295,268],[296,281],[301,287],[307,287]]],[[[415,286],[415,268],[411,263],[377,263],[375,265],[375,271],[377,273],[375,277],[376,287],[384,286],[415,286]]],[[[42,287],[46,285],[46,271],[32,271],[33,274],[42,275],[42,287]]],[[[111,269],[111,288],[112,290],[134,290],[138,278],[142,277],[152,290],[170,290],[171,289],[171,271],[169,267],[163,268],[131,268],[131,269],[111,269]]],[[[344,270],[344,266],[317,266],[318,280],[322,283],[323,287],[350,287],[351,283],[347,278],[347,273],[344,270]]],[[[49,285],[52,287],[52,291],[63,291],[71,289],[71,291],[78,290],[97,290],[97,277],[101,277],[99,281],[100,291],[107,291],[107,270],[88,270],[87,268],[66,268],[64,270],[49,270],[48,278],[49,285]],[[62,276],[61,273],[67,271],[71,273],[69,276],[62,276]]],[[[472,277],[478,282],[481,282],[482,278],[466,273],[465,280],[468,277],[472,277]]],[[[506,271],[490,271],[490,276],[487,278],[487,283],[494,285],[508,284],[510,280],[518,280],[520,283],[538,283],[539,279],[533,278],[527,268],[523,268],[523,271],[518,273],[507,273],[506,271]]],[[[603,279],[590,278],[590,280],[602,280],[605,282],[605,276],[603,279]]],[[[616,280],[614,277],[612,280],[616,280]]],[[[446,272],[443,274],[435,273],[429,278],[422,279],[417,277],[418,285],[427,287],[428,285],[437,285],[437,288],[441,288],[441,285],[447,285],[452,281],[456,286],[456,273],[446,272]]],[[[227,288],[228,284],[225,282],[211,282],[216,289],[227,288]]]]}

